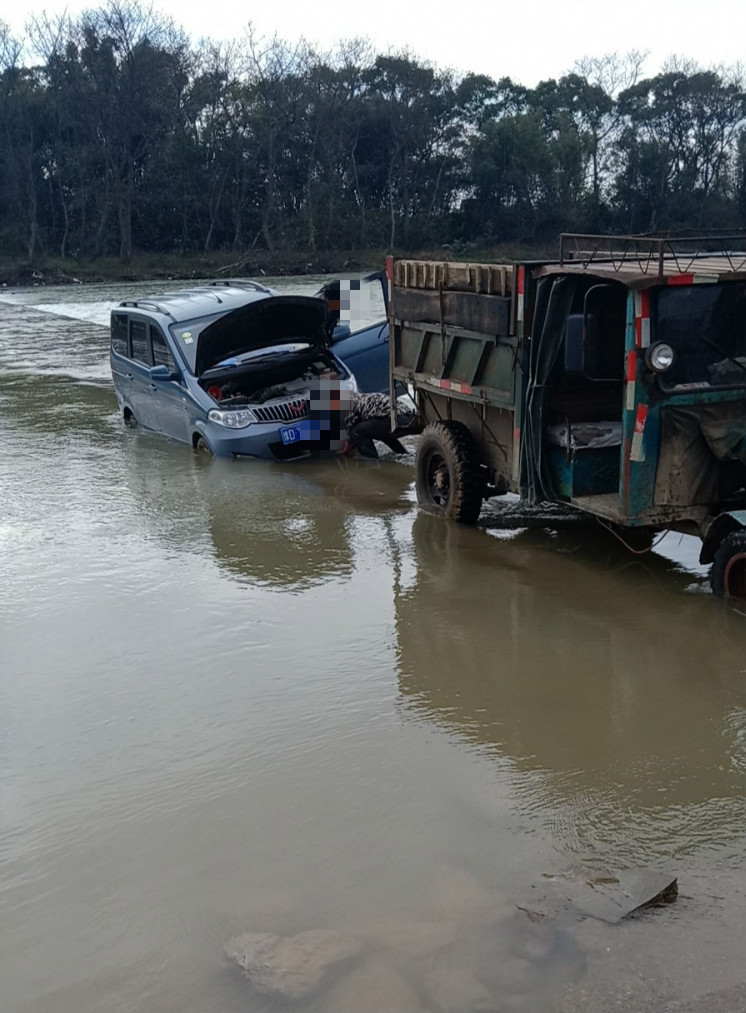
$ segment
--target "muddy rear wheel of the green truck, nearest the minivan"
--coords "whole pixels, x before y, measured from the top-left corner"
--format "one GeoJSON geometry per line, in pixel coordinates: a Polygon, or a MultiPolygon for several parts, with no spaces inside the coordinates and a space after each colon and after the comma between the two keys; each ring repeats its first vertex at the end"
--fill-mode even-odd
{"type": "Polygon", "coordinates": [[[417,449],[418,502],[460,524],[476,524],[484,476],[476,444],[462,422],[432,422],[417,449]]]}

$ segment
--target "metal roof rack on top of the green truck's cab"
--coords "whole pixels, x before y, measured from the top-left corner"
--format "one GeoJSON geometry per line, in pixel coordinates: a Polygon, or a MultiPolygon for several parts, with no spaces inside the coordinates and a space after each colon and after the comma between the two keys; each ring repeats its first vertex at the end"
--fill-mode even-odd
{"type": "Polygon", "coordinates": [[[643,275],[664,276],[664,264],[679,275],[689,274],[702,257],[723,257],[734,272],[746,269],[746,231],[699,232],[687,235],[648,233],[639,236],[598,236],[563,232],[559,263],[581,261],[584,267],[603,262],[614,270],[635,264],[643,275]]]}

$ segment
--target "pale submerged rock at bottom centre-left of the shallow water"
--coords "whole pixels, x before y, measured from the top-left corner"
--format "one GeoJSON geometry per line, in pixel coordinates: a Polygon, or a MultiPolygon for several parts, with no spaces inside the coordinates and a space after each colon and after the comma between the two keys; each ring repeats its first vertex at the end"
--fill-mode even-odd
{"type": "Polygon", "coordinates": [[[297,936],[245,932],[225,952],[245,972],[257,992],[297,1001],[320,988],[329,971],[360,953],[360,942],[328,929],[297,936]]]}

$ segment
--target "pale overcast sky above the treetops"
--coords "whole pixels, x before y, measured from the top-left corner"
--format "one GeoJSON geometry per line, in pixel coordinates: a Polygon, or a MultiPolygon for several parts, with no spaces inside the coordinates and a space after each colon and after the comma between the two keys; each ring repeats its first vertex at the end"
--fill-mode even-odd
{"type": "MultiPolygon", "coordinates": [[[[0,20],[21,31],[31,14],[77,14],[95,2],[2,0],[0,20]]],[[[671,55],[704,67],[746,63],[746,0],[156,0],[193,40],[235,38],[251,20],[263,35],[301,35],[323,49],[367,36],[376,52],[408,48],[440,67],[510,76],[532,86],[584,56],[649,51],[647,75],[671,55]]]]}

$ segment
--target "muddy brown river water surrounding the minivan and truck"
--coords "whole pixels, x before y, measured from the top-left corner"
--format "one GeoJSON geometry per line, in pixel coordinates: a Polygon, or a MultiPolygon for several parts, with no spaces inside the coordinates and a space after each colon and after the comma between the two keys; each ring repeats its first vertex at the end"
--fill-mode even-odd
{"type": "Polygon", "coordinates": [[[104,324],[138,291],[0,293],[4,1013],[284,1010],[224,946],[319,928],[360,952],[295,1009],[738,986],[746,617],[694,543],[462,530],[411,460],[126,432],[104,324]],[[516,907],[648,866],[680,897],[630,922],[516,907]]]}

